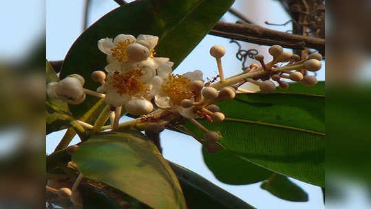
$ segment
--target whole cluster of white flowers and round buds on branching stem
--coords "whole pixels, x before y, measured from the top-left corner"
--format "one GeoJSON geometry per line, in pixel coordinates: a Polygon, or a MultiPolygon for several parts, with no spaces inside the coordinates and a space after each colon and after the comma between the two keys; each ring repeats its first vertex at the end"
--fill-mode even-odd
{"type": "MultiPolygon", "coordinates": [[[[223,121],[225,116],[215,102],[232,100],[240,93],[270,93],[277,86],[286,89],[289,84],[285,79],[312,86],[317,83],[317,79],[307,75],[307,72],[321,68],[321,54],[310,54],[301,59],[296,54],[284,51],[281,46],[273,45],[268,50],[273,56],[270,62],[264,62],[264,56],[257,55],[255,60],[259,61],[260,66],[251,64],[244,72],[225,78],[222,56],[226,51],[224,47],[215,45],[211,47],[210,54],[216,60],[219,74],[204,83],[200,70],[182,75],[172,74],[173,63],[170,59],[155,57],[157,43],[157,36],[142,34],[137,38],[119,34],[114,39],[100,39],[98,49],[107,54],[108,64],[106,72],[92,73],[92,80],[101,84],[97,92],[84,89],[84,79],[74,74],[59,83],[50,83],[47,95],[70,104],[83,102],[85,94],[105,98],[105,103],[114,113],[114,120],[110,126],[99,127],[101,130],[136,126],[160,132],[170,122],[187,118],[204,132],[204,140],[199,141],[209,151],[215,152],[220,148],[215,143],[220,139],[220,133],[209,131],[195,120],[204,118],[209,122],[223,121]],[[252,88],[244,88],[246,85],[252,88]],[[142,116],[118,124],[121,107],[125,107],[126,113],[142,116]]],[[[93,129],[92,125],[81,124],[87,129],[93,129]]],[[[105,124],[105,121],[100,124],[105,124]]]]}

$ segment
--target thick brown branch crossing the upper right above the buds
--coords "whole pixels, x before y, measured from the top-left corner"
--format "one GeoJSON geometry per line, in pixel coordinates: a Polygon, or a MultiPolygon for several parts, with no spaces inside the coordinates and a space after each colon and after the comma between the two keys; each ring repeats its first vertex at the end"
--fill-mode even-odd
{"type": "MultiPolygon", "coordinates": [[[[303,47],[313,48],[319,50],[319,52],[321,53],[324,53],[325,50],[324,39],[318,39],[309,36],[301,36],[297,34],[290,34],[286,32],[279,32],[277,30],[271,30],[268,28],[263,28],[259,25],[253,25],[249,23],[237,24],[218,22],[211,31],[214,32],[215,34],[215,30],[218,32],[224,32],[223,37],[226,37],[226,34],[235,34],[242,36],[250,36],[251,38],[255,38],[256,41],[259,41],[258,39],[262,40],[268,39],[271,41],[283,41],[287,43],[294,43],[295,48],[297,46],[297,43],[304,43],[303,47]]],[[[230,38],[235,39],[233,37],[230,38]]],[[[259,44],[266,45],[265,42],[259,44]]]]}

